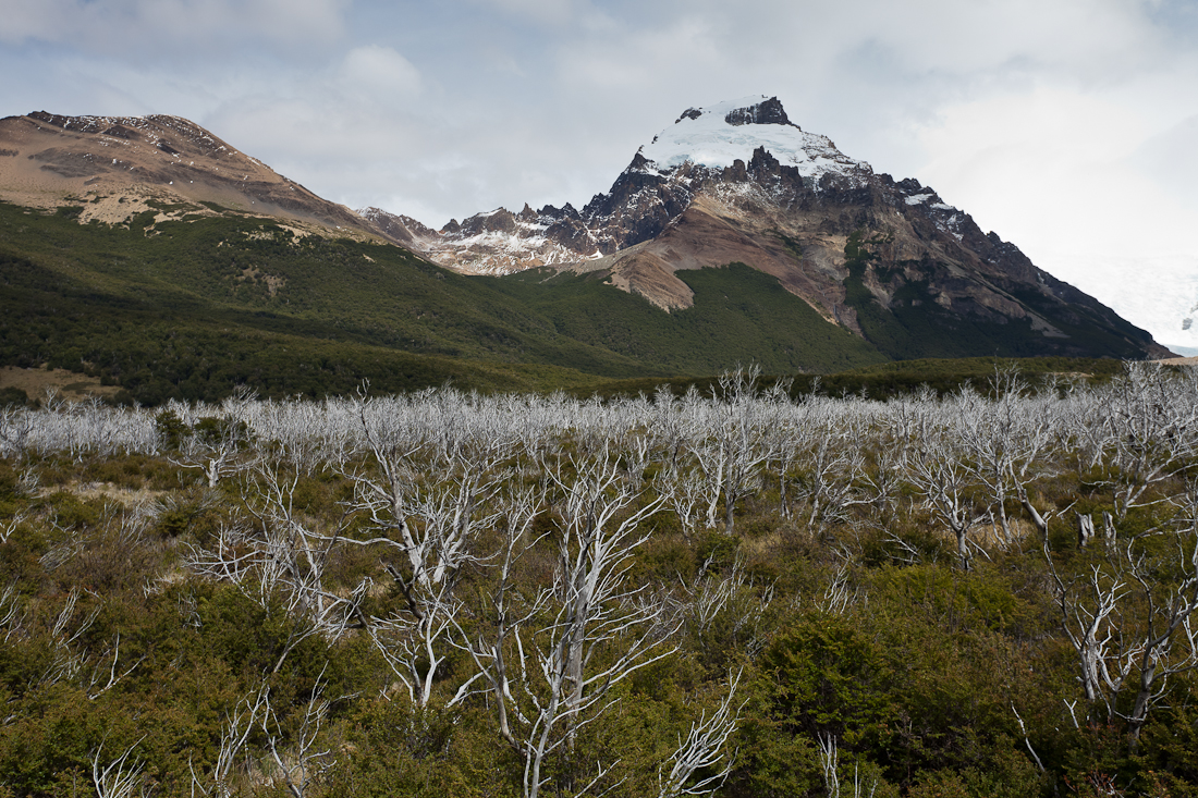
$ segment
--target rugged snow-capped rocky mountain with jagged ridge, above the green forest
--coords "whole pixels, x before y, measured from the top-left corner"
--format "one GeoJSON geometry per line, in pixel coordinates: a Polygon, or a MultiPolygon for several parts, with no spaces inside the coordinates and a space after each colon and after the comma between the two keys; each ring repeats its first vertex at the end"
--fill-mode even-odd
{"type": "Polygon", "coordinates": [[[498,208],[441,230],[363,213],[458,271],[595,272],[668,312],[695,303],[686,272],[745,264],[888,358],[1168,355],[933,189],[803,131],[775,97],[685,110],[581,210],[498,208]]]}

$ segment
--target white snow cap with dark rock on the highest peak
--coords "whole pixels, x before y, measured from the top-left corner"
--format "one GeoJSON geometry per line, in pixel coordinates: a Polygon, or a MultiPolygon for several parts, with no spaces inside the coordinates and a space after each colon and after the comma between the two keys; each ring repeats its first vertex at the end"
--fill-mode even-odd
{"type": "Polygon", "coordinates": [[[688,161],[724,169],[736,161],[749,163],[757,147],[764,147],[783,167],[795,167],[804,177],[872,173],[864,161],[841,153],[828,137],[807,133],[791,122],[778,97],[764,95],[690,108],[640,152],[657,169],[672,169],[688,161]]]}

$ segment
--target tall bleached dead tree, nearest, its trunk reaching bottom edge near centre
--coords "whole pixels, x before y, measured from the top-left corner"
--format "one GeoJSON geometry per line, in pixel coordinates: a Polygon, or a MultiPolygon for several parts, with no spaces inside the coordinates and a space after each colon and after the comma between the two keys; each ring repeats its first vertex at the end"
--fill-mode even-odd
{"type": "Polygon", "coordinates": [[[639,503],[610,453],[555,464],[547,476],[561,518],[552,585],[520,596],[509,581],[512,563],[527,550],[519,542],[534,512],[528,502],[510,507],[492,603],[497,625],[467,643],[479,669],[474,678],[489,685],[484,690],[500,713],[501,733],[524,760],[526,798],[545,787],[546,757],[573,749],[577,731],[610,706],[616,684],[673,652],[661,649],[668,635],[651,634],[664,603],[640,600],[643,588],[625,579],[635,550],[648,539],[641,522],[662,500],[639,503]]]}

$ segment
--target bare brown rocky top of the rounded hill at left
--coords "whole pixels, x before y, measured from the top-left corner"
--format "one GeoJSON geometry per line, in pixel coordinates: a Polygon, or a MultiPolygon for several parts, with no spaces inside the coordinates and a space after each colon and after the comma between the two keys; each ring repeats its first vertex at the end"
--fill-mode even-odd
{"type": "Polygon", "coordinates": [[[11,153],[0,158],[0,197],[34,207],[84,201],[81,220],[119,222],[149,201],[213,202],[380,236],[350,208],[179,116],[8,116],[0,147],[11,153]]]}

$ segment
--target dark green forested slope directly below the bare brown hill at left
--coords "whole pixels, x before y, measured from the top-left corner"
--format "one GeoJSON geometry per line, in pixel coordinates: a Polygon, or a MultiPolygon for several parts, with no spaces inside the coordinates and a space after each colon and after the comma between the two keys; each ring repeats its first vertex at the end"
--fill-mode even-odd
{"type": "Polygon", "coordinates": [[[86,371],[156,404],[453,380],[480,389],[655,374],[392,244],[238,216],[79,224],[0,202],[0,365],[86,371]]]}

